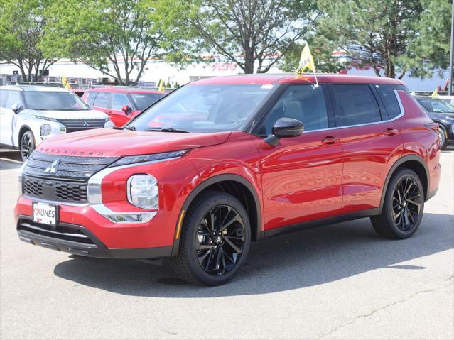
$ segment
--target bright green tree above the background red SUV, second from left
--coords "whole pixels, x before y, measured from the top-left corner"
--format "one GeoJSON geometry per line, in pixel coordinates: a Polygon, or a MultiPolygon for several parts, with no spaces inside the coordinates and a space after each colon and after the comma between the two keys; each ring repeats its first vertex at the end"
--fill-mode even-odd
{"type": "Polygon", "coordinates": [[[55,0],[47,11],[48,57],[83,62],[116,79],[136,84],[163,34],[150,14],[149,0],[55,0]]]}

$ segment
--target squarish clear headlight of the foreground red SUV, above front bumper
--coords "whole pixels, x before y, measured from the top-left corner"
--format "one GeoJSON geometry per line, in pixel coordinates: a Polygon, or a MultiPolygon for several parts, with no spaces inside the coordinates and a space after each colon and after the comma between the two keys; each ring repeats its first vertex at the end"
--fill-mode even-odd
{"type": "Polygon", "coordinates": [[[143,209],[158,208],[158,181],[151,175],[132,175],[127,182],[128,201],[143,209]]]}

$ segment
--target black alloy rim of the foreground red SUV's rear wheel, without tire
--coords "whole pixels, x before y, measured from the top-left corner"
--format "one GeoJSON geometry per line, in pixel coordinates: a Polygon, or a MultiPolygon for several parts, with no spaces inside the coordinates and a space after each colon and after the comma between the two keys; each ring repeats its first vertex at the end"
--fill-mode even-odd
{"type": "Polygon", "coordinates": [[[401,231],[414,228],[421,214],[421,191],[413,178],[404,177],[397,184],[392,211],[397,228],[401,231]]]}

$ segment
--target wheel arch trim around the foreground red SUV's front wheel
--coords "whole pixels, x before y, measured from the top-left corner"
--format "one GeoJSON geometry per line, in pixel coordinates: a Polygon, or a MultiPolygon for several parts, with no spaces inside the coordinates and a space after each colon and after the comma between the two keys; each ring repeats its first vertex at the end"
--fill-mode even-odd
{"type": "Polygon", "coordinates": [[[257,194],[254,185],[240,175],[215,175],[201,182],[185,199],[183,207],[180,209],[180,214],[178,214],[177,225],[175,226],[172,256],[176,256],[178,254],[178,248],[180,246],[179,234],[181,225],[183,224],[183,220],[185,218],[185,212],[188,211],[188,208],[190,208],[190,205],[194,202],[194,200],[207,190],[227,192],[228,194],[232,194],[237,197],[237,199],[242,202],[244,209],[246,209],[249,215],[252,240],[256,241],[263,238],[263,232],[261,231],[261,203],[259,194],[257,194]]]}

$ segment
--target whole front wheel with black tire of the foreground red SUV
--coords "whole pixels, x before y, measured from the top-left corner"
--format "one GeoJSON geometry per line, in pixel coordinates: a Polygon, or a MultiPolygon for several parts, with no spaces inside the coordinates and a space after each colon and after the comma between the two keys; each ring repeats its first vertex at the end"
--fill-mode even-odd
{"type": "Polygon", "coordinates": [[[241,202],[225,192],[205,192],[188,209],[178,256],[171,262],[185,281],[222,285],[241,268],[250,243],[249,216],[241,202]]]}

